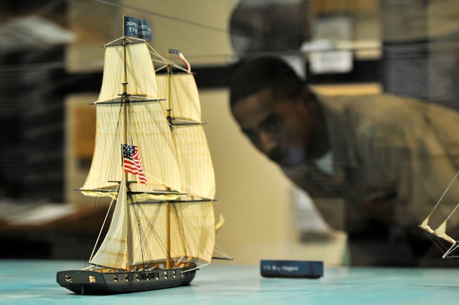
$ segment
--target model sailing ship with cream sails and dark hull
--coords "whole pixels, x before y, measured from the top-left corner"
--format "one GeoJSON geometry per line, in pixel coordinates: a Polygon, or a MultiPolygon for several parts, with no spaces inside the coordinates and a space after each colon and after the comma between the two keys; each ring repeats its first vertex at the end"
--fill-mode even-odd
{"type": "Polygon", "coordinates": [[[119,294],[188,285],[215,247],[215,175],[201,106],[186,68],[157,54],[145,20],[105,45],[95,150],[85,196],[109,197],[101,233],[82,270],[56,274],[76,294],[119,294]],[[141,35],[138,35],[138,34],[141,35]],[[147,35],[148,37],[148,35],[147,35]],[[162,70],[155,71],[158,62],[162,70]],[[182,72],[172,73],[172,68],[182,72]],[[158,72],[158,73],[157,73],[158,72]],[[103,233],[102,233],[103,232],[103,233]]]}

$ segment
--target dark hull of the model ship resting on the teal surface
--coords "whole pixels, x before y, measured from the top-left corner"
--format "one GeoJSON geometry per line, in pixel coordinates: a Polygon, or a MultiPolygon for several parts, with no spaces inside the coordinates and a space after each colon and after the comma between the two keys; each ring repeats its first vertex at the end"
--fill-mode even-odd
{"type": "Polygon", "coordinates": [[[124,294],[189,285],[195,275],[196,265],[125,272],[64,270],[57,273],[56,281],[76,294],[124,294]]]}

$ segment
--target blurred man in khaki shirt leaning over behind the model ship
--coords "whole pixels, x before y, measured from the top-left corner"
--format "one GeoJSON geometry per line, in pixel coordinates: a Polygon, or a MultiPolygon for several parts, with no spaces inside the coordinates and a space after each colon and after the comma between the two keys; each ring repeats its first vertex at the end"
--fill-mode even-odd
{"type": "MultiPolygon", "coordinates": [[[[344,198],[345,225],[337,228],[348,232],[352,263],[441,257],[418,225],[458,172],[457,112],[393,95],[316,95],[274,57],[239,64],[230,90],[234,119],[258,150],[313,199],[344,198]]],[[[456,184],[429,225],[439,227],[458,201],[456,184]]],[[[447,232],[458,223],[459,213],[447,232]]]]}

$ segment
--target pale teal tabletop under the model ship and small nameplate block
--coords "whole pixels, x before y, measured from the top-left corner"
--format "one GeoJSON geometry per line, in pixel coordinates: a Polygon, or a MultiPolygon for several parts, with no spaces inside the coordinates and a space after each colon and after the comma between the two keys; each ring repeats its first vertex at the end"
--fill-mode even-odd
{"type": "Polygon", "coordinates": [[[0,304],[459,304],[459,269],[325,268],[318,280],[263,278],[259,266],[208,265],[191,285],[133,294],[77,295],[56,271],[81,261],[0,261],[0,304]]]}

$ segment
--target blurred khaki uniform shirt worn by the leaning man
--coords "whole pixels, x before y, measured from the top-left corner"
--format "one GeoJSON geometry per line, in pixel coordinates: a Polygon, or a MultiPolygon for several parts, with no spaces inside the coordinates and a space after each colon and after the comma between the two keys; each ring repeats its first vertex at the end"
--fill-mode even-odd
{"type": "MultiPolygon", "coordinates": [[[[314,198],[344,198],[344,227],[366,220],[414,227],[430,213],[459,169],[459,113],[393,95],[318,96],[333,152],[333,176],[306,162],[284,172],[314,198]]],[[[459,201],[459,181],[431,216],[436,227],[459,201]]],[[[330,201],[330,204],[333,201],[330,201]]],[[[323,217],[333,206],[318,206],[323,217]]],[[[448,222],[459,224],[459,210],[448,222]]]]}

